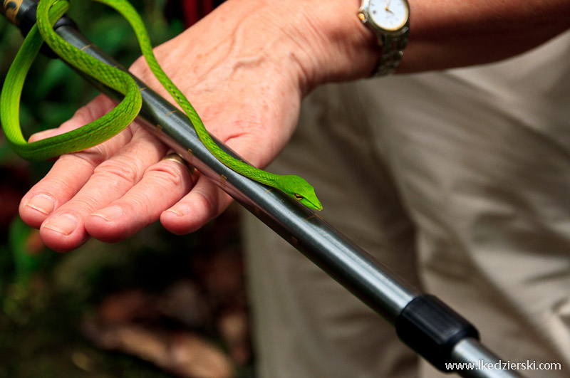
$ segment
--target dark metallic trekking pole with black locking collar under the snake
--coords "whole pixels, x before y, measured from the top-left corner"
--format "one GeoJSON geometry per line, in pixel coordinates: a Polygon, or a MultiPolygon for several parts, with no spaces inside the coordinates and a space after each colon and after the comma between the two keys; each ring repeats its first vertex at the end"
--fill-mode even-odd
{"type": "MultiPolygon", "coordinates": [[[[0,11],[22,33],[36,22],[36,0],[0,0],[0,11]]],[[[62,17],[56,33],[103,63],[125,70],[62,17]]],[[[83,74],[82,74],[83,75],[83,74]]],[[[111,98],[122,95],[83,75],[111,98]]],[[[140,123],[211,179],[258,219],[316,263],[353,295],[395,326],[405,344],[442,372],[462,377],[521,377],[500,369],[501,359],[479,342],[470,322],[433,295],[425,295],[391,273],[366,251],[333,229],[321,216],[280,191],[254,182],[229,169],[202,145],[186,115],[137,80],[142,94],[140,123]],[[144,88],[144,90],[142,90],[144,88]],[[499,369],[497,369],[499,366],[499,369]]],[[[214,138],[215,140],[215,138],[214,138]]],[[[217,145],[240,157],[218,140],[217,145]]]]}

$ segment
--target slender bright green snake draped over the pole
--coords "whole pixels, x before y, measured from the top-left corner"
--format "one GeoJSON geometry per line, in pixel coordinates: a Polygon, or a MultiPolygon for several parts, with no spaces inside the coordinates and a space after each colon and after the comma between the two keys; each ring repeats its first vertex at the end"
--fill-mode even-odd
{"type": "MultiPolygon", "coordinates": [[[[199,139],[209,152],[235,172],[261,184],[279,189],[311,209],[322,209],[313,187],[305,179],[294,175],[265,172],[235,159],[219,148],[209,136],[194,107],[160,68],[154,53],[152,53],[152,44],[145,26],[133,6],[126,0],[95,1],[112,7],[127,19],[135,31],[142,55],[145,57],[150,70],[168,93],[172,95],[176,103],[182,107],[192,122],[199,139]]],[[[9,145],[24,159],[44,160],[98,145],[127,127],[140,111],[142,104],[140,90],[135,80],[128,73],[105,65],[89,56],[64,41],[52,30],[53,23],[66,12],[68,7],[67,0],[41,0],[39,2],[36,26],[33,26],[26,36],[4,81],[0,97],[2,127],[9,145]],[[24,87],[24,79],[43,41],[46,41],[48,46],[66,62],[108,85],[108,87],[117,90],[125,97],[113,110],[98,120],[61,135],[28,143],[22,135],[19,124],[19,102],[24,87]]]]}

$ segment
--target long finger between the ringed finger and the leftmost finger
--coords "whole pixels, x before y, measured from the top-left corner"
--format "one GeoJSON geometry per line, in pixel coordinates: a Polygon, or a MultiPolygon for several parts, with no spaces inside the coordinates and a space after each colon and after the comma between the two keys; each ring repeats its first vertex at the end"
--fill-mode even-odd
{"type": "MultiPolygon", "coordinates": [[[[128,145],[116,154],[95,166],[83,186],[70,199],[60,201],[55,211],[49,214],[40,227],[40,236],[46,245],[56,251],[70,251],[88,240],[85,229],[88,216],[103,209],[123,196],[142,178],[143,173],[164,156],[166,147],[149,132],[138,129],[128,145]]],[[[73,165],[81,154],[63,157],[73,165]]],[[[62,172],[58,172],[61,180],[62,172]]],[[[77,189],[77,187],[73,187],[77,189]]],[[[148,214],[140,214],[147,219],[148,214]]]]}

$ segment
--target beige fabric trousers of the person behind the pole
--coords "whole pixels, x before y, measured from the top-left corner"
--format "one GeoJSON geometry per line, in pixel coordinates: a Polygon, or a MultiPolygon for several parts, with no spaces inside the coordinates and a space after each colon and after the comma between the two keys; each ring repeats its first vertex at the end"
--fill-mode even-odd
{"type": "MultiPolygon", "coordinates": [[[[504,63],[318,88],[271,166],[321,215],[471,320],[570,376],[570,33],[504,63]]],[[[392,327],[244,217],[260,377],[439,377],[392,327]]]]}

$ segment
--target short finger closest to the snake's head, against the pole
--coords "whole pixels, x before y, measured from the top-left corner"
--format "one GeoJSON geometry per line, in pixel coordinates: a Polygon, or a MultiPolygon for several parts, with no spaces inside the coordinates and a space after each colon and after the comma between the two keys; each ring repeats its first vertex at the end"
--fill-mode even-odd
{"type": "Polygon", "coordinates": [[[177,235],[197,231],[222,213],[232,197],[224,193],[212,180],[200,175],[192,191],[160,215],[165,229],[177,235]]]}

